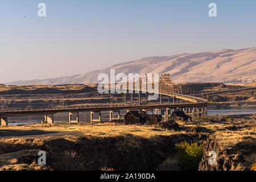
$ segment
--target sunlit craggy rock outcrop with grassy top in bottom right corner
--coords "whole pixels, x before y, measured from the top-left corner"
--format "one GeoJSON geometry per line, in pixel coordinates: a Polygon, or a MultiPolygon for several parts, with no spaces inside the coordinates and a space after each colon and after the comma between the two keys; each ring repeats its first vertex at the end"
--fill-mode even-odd
{"type": "MultiPolygon", "coordinates": [[[[236,130],[235,128],[230,130],[236,130]]],[[[199,171],[243,171],[250,170],[255,163],[255,131],[225,131],[211,135],[204,146],[204,157],[199,171]],[[209,164],[209,152],[215,151],[217,164],[209,164]]]]}

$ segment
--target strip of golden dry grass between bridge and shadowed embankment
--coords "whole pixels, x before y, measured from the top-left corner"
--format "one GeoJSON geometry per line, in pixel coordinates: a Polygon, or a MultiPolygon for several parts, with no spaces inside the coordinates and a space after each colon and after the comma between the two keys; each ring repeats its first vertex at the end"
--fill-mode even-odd
{"type": "Polygon", "coordinates": [[[14,130],[77,131],[82,135],[92,135],[94,137],[116,137],[118,135],[133,134],[144,138],[151,138],[155,137],[156,135],[171,135],[179,133],[177,131],[159,129],[150,125],[121,125],[111,122],[94,123],[93,125],[91,123],[79,123],[78,125],[65,125],[64,123],[56,123],[53,125],[32,124],[23,126],[0,127],[0,132],[14,130]]]}

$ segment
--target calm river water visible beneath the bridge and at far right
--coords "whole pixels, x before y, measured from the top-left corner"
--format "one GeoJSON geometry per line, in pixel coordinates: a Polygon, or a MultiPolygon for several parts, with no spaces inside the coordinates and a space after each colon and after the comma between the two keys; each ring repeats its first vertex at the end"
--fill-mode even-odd
{"type": "MultiPolygon", "coordinates": [[[[125,115],[125,110],[121,111],[121,115],[125,115]]],[[[148,111],[150,114],[150,111],[148,111]]],[[[158,114],[160,112],[158,111],[158,114]]],[[[236,114],[256,114],[256,109],[217,109],[208,110],[208,115],[236,115],[236,114]]],[[[118,113],[113,113],[112,118],[117,117],[118,113]]],[[[57,113],[53,115],[55,122],[68,122],[68,113],[57,113]]],[[[76,115],[73,115],[75,119],[76,115]]],[[[109,111],[102,111],[101,113],[102,121],[109,121],[109,111]]],[[[25,116],[25,117],[9,117],[9,125],[21,125],[29,123],[41,123],[44,116],[25,116]]],[[[93,119],[98,119],[98,113],[93,115],[93,119]]],[[[90,122],[90,113],[81,112],[79,113],[80,122],[90,122]]]]}

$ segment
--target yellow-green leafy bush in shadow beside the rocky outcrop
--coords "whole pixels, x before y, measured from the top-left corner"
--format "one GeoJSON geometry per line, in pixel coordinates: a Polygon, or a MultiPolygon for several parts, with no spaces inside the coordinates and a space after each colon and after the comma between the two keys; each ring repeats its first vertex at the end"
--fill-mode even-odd
{"type": "Polygon", "coordinates": [[[204,143],[192,143],[184,141],[175,144],[180,169],[185,171],[197,171],[203,157],[204,143]]]}

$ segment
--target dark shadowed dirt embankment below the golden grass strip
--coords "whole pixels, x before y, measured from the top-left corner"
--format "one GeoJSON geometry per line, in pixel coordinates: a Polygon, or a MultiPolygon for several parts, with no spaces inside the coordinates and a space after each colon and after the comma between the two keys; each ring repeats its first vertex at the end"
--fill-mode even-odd
{"type": "MultiPolygon", "coordinates": [[[[184,140],[198,141],[202,139],[201,137],[200,134],[177,134],[143,138],[127,134],[126,136],[103,138],[87,136],[75,140],[60,138],[50,140],[10,139],[0,143],[0,164],[4,155],[9,156],[9,162],[6,163],[5,160],[4,165],[2,162],[3,166],[0,169],[26,170],[32,169],[31,167],[40,169],[40,165],[37,164],[39,156],[36,155],[39,150],[47,152],[47,166],[44,169],[154,170],[161,169],[162,163],[165,163],[164,168],[166,169],[167,157],[169,156],[168,160],[170,160],[170,154],[175,154],[175,143],[184,140]],[[16,156],[16,151],[19,151],[23,157],[16,156]]],[[[168,169],[179,170],[177,163],[168,165],[168,169]]]]}

